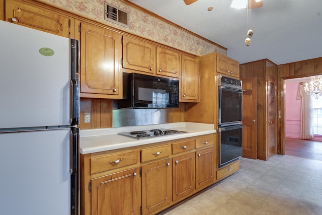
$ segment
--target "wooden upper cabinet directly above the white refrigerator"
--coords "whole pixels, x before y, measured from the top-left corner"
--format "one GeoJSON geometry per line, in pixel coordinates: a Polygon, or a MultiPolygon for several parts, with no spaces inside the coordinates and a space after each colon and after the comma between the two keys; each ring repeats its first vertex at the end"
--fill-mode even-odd
{"type": "Polygon", "coordinates": [[[6,21],[63,37],[73,37],[74,19],[19,1],[6,1],[6,21]]]}

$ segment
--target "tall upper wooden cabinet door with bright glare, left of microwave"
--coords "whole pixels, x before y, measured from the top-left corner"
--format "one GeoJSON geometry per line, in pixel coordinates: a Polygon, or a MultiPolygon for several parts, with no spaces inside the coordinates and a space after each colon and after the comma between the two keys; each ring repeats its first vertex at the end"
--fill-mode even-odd
{"type": "Polygon", "coordinates": [[[119,34],[81,24],[81,97],[121,98],[120,44],[119,34]]]}

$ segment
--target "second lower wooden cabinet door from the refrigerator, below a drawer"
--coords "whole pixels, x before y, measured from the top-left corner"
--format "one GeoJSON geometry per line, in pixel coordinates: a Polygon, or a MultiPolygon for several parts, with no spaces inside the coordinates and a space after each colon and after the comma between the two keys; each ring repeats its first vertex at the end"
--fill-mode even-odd
{"type": "Polygon", "coordinates": [[[172,201],[170,159],[142,166],[142,213],[153,214],[172,201]]]}

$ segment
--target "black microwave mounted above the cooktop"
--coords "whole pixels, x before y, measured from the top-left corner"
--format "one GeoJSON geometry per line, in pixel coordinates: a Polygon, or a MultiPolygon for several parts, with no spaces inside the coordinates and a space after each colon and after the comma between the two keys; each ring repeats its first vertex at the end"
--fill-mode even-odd
{"type": "Polygon", "coordinates": [[[177,108],[179,80],[123,73],[123,100],[119,108],[177,108]]]}

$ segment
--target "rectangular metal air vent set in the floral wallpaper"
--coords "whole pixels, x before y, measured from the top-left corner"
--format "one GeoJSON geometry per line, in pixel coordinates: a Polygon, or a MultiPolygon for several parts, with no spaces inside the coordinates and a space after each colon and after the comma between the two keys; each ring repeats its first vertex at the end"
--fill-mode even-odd
{"type": "Polygon", "coordinates": [[[105,15],[104,19],[107,21],[114,22],[116,24],[125,26],[125,27],[130,27],[130,18],[129,14],[127,11],[124,11],[118,7],[112,6],[105,2],[104,4],[105,7],[105,15]]]}

